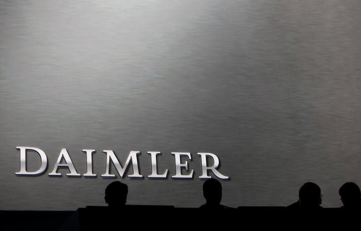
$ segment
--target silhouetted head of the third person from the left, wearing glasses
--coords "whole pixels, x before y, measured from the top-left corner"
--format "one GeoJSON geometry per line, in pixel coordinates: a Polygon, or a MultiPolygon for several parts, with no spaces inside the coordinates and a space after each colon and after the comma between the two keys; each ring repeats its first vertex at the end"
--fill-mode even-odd
{"type": "Polygon", "coordinates": [[[299,191],[302,208],[315,208],[322,203],[321,188],[312,182],[306,182],[299,191]]]}

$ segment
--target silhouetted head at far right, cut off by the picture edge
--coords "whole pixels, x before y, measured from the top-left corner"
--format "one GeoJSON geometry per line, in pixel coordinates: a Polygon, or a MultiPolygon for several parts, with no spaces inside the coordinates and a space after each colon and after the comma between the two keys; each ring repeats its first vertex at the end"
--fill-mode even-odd
{"type": "Polygon", "coordinates": [[[339,194],[345,207],[353,207],[360,204],[360,188],[354,182],[344,183],[339,190],[339,194]]]}

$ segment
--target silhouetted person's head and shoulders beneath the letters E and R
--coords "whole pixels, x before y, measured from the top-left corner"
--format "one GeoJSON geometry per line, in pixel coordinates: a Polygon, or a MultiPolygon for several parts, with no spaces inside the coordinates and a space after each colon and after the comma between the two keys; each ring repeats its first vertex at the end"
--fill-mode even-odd
{"type": "Polygon", "coordinates": [[[203,183],[203,196],[206,203],[200,209],[224,209],[229,208],[221,205],[222,185],[217,179],[208,179],[203,183]]]}

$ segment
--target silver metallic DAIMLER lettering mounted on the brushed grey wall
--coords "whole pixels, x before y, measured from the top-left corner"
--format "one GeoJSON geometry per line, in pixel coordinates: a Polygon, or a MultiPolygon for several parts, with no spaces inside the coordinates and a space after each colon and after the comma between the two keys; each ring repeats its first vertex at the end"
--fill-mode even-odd
{"type": "MultiPolygon", "coordinates": [[[[15,175],[26,175],[26,176],[35,176],[40,175],[44,173],[48,166],[48,158],[45,152],[39,148],[35,147],[16,147],[16,149],[20,150],[20,171],[15,173],[15,175]],[[26,155],[27,151],[33,151],[37,153],[40,156],[41,159],[41,165],[40,168],[37,171],[34,172],[28,172],[26,170],[26,155]]],[[[51,173],[49,173],[49,176],[61,176],[61,173],[57,173],[59,168],[67,168],[69,170],[69,173],[66,174],[66,176],[70,177],[96,177],[97,174],[93,173],[93,160],[92,155],[95,153],[94,149],[83,149],[82,152],[86,155],[86,166],[87,166],[87,172],[84,174],[79,174],[71,159],[69,156],[69,153],[65,148],[61,149],[59,158],[57,162],[54,165],[54,169],[51,173]],[[63,164],[60,164],[62,160],[65,162],[63,164]]],[[[120,177],[124,176],[125,171],[127,170],[128,166],[131,164],[133,174],[128,175],[129,178],[143,178],[143,175],[139,174],[139,166],[138,166],[138,159],[137,156],[141,155],[139,151],[131,151],[125,161],[125,164],[120,164],[116,154],[112,150],[104,150],[103,153],[106,155],[106,168],[105,173],[101,175],[103,178],[115,178],[115,174],[110,173],[110,164],[113,163],[115,169],[117,170],[120,177]]],[[[168,175],[168,169],[164,171],[164,173],[159,174],[157,172],[157,156],[161,155],[161,152],[147,152],[147,154],[150,156],[151,161],[151,167],[152,172],[147,177],[152,178],[167,178],[168,175]]],[[[189,179],[193,178],[193,170],[190,172],[188,171],[188,162],[184,161],[182,162],[181,157],[188,158],[189,161],[192,160],[192,156],[189,152],[172,152],[171,153],[174,156],[174,161],[176,165],[176,174],[172,175],[172,178],[178,178],[178,179],[189,179]],[[188,174],[182,174],[182,168],[188,173],[188,174]]],[[[219,159],[218,157],[213,153],[197,153],[197,155],[201,158],[201,168],[202,168],[202,175],[200,175],[199,179],[208,179],[211,178],[211,176],[208,175],[208,171],[211,171],[215,176],[217,176],[220,179],[229,179],[229,176],[223,175],[220,173],[217,168],[219,166],[219,159]],[[213,160],[212,166],[207,166],[207,158],[213,160]]],[[[184,172],[184,171],[183,171],[184,172]]]]}

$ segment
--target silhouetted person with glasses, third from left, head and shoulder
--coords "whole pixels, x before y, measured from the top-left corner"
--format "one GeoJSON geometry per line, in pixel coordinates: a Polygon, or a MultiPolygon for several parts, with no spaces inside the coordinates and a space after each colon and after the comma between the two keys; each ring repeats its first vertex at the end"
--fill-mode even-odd
{"type": "Polygon", "coordinates": [[[313,183],[304,183],[299,190],[299,200],[289,206],[286,209],[295,211],[316,211],[322,209],[320,204],[322,203],[321,188],[313,183]]]}

